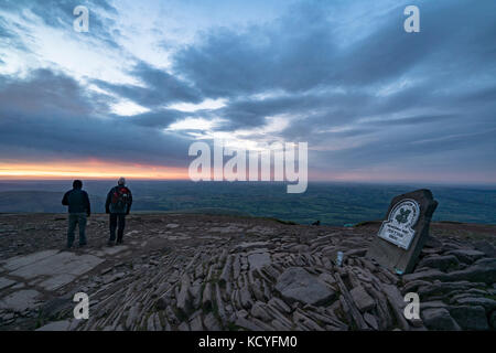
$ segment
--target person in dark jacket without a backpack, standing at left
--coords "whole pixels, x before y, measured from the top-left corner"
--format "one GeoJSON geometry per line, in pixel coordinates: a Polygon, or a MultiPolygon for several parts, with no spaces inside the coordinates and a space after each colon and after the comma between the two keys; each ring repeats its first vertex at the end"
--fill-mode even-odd
{"type": "Polygon", "coordinates": [[[86,245],[86,217],[91,214],[89,197],[83,189],[83,182],[75,180],[73,190],[67,191],[62,199],[62,204],[68,206],[67,248],[74,243],[74,231],[79,226],[79,246],[86,245]]]}

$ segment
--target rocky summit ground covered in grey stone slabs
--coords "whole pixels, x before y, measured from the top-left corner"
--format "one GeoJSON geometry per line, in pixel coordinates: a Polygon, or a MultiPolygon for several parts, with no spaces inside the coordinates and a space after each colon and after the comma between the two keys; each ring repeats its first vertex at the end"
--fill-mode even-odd
{"type": "Polygon", "coordinates": [[[495,226],[432,223],[413,271],[365,255],[380,223],[354,227],[134,214],[107,247],[64,249],[66,215],[0,215],[2,330],[494,330],[495,226]],[[341,266],[337,253],[343,253],[341,266]],[[89,318],[76,320],[77,292],[89,318]],[[407,319],[407,293],[420,318],[407,319]]]}

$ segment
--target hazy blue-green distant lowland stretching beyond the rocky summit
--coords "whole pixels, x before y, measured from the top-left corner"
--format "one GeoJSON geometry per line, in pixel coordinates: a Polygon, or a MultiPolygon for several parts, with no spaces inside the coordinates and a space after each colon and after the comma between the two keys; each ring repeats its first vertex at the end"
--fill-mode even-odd
{"type": "MultiPolygon", "coordinates": [[[[85,181],[94,213],[105,211],[112,181],[85,181]]],[[[496,188],[310,183],[303,194],[285,193],[283,183],[132,181],[133,212],[237,214],[299,224],[321,221],[352,225],[384,217],[390,200],[419,188],[439,201],[434,221],[496,224],[496,188]]],[[[61,213],[71,181],[2,181],[1,213],[61,213]]]]}

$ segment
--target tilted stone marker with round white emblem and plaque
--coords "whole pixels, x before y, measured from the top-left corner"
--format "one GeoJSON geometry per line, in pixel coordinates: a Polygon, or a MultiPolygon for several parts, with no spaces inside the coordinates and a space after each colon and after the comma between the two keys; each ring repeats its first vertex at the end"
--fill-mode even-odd
{"type": "Polygon", "coordinates": [[[436,207],[438,202],[427,189],[392,199],[366,257],[397,274],[410,272],[429,237],[429,224],[436,207]]]}

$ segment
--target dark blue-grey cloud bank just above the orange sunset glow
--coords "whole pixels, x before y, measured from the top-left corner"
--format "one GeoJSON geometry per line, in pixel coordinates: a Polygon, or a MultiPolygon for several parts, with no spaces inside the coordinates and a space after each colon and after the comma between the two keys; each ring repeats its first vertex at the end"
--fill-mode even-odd
{"type": "Polygon", "coordinates": [[[71,77],[41,69],[0,86],[0,156],[40,161],[96,158],[186,165],[190,141],[131,119],[101,115],[71,77]]]}

